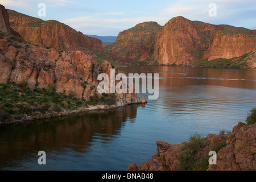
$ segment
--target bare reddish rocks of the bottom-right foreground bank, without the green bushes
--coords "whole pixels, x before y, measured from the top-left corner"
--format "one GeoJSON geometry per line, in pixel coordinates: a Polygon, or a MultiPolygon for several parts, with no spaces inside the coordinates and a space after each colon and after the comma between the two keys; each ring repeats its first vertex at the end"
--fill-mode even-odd
{"type": "MultiPolygon", "coordinates": [[[[209,134],[202,139],[209,144],[197,151],[195,158],[208,156],[210,151],[216,149],[219,143],[226,143],[217,152],[217,164],[209,164],[208,171],[247,171],[255,170],[256,167],[256,123],[246,126],[238,123],[229,135],[209,134]]],[[[128,171],[178,171],[180,170],[180,152],[185,142],[180,144],[168,144],[163,141],[156,142],[157,154],[151,160],[141,166],[131,164],[128,171]]]]}

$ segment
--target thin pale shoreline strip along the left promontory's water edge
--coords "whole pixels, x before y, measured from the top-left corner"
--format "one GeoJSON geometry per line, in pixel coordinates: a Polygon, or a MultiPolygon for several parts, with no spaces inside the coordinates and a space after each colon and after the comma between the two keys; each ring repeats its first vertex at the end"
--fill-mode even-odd
{"type": "Polygon", "coordinates": [[[111,110],[111,109],[117,109],[119,107],[125,107],[127,105],[134,105],[134,104],[147,104],[146,102],[138,102],[138,103],[131,103],[131,104],[125,104],[125,105],[112,105],[112,106],[106,106],[106,105],[96,105],[96,106],[89,106],[89,107],[80,107],[79,110],[63,110],[61,112],[54,111],[53,113],[45,113],[38,116],[32,116],[28,115],[27,117],[23,117],[21,119],[16,119],[14,122],[0,122],[1,126],[8,126],[8,125],[20,125],[20,124],[26,124],[34,121],[39,121],[42,119],[51,119],[51,118],[57,118],[57,117],[68,117],[71,115],[79,114],[79,113],[86,113],[88,111],[100,111],[100,110],[111,110]]]}

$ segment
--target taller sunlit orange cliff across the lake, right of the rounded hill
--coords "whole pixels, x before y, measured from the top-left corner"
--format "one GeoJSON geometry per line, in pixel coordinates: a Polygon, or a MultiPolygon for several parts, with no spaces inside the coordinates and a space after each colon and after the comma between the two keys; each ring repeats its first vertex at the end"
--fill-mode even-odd
{"type": "Polygon", "coordinates": [[[255,48],[255,31],[191,21],[177,16],[156,34],[154,59],[159,64],[189,65],[200,59],[242,56],[255,48]]]}

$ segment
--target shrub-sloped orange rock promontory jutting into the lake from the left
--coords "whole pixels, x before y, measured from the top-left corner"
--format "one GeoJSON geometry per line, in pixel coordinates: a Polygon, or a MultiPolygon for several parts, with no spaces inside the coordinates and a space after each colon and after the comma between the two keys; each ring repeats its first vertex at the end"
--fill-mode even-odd
{"type": "MultiPolygon", "coordinates": [[[[0,20],[8,24],[6,17],[0,20]]],[[[6,24],[2,30],[8,29],[6,24]]],[[[0,31],[0,124],[31,119],[31,114],[38,119],[85,111],[89,106],[108,109],[146,102],[137,94],[97,92],[98,74],[112,69],[108,61],[98,65],[84,52],[42,48],[7,33],[0,31]]]]}

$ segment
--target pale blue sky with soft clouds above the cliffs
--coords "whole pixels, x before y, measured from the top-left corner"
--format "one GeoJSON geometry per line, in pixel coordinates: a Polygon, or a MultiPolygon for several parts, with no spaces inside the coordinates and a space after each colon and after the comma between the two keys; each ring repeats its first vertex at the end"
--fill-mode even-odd
{"type": "Polygon", "coordinates": [[[0,4],[43,20],[58,20],[88,35],[117,36],[148,21],[164,26],[175,16],[256,29],[255,0],[0,0],[0,4]],[[46,5],[46,11],[39,3],[46,5]],[[39,16],[39,11],[46,16],[39,16]]]}

